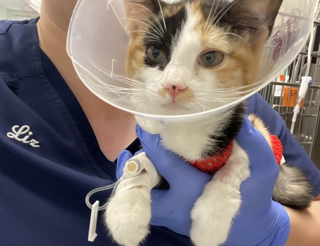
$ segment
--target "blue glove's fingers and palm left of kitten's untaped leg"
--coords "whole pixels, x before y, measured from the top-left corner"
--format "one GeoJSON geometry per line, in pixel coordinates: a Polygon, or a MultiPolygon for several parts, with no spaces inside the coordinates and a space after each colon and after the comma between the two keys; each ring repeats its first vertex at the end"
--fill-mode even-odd
{"type": "MultiPolygon", "coordinates": [[[[189,236],[191,209],[203,192],[205,184],[212,179],[212,175],[199,171],[165,150],[159,142],[159,135],[151,135],[139,126],[136,132],[148,158],[170,185],[167,190],[151,190],[151,224],[189,236]]],[[[127,150],[120,153],[117,161],[118,179],[122,176],[126,161],[131,157],[132,154],[127,150]]]]}

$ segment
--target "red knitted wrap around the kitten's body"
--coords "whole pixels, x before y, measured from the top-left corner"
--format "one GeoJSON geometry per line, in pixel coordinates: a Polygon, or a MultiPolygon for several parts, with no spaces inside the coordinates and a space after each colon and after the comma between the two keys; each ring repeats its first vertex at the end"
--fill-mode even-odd
{"type": "MultiPolygon", "coordinates": [[[[270,139],[276,162],[278,163],[278,165],[280,165],[283,154],[282,144],[275,135],[271,135],[270,139]]],[[[191,161],[190,164],[205,173],[215,173],[227,163],[229,157],[231,156],[232,150],[233,141],[231,141],[228,147],[225,150],[222,150],[220,153],[214,156],[210,156],[204,160],[191,161]]]]}

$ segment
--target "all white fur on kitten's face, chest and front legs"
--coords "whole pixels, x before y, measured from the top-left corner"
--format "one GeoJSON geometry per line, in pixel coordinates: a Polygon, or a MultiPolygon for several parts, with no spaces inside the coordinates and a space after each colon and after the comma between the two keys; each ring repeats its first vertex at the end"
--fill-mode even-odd
{"type": "MultiPolygon", "coordinates": [[[[199,103],[205,106],[206,102],[203,99],[213,96],[208,94],[208,91],[219,88],[219,83],[223,82],[218,81],[219,78],[212,72],[198,65],[198,57],[204,48],[195,32],[196,25],[197,17],[188,7],[186,23],[177,35],[171,60],[164,71],[156,67],[144,68],[141,81],[146,84],[146,94],[150,100],[148,104],[142,103],[140,110],[165,115],[201,111],[203,109],[199,103]],[[165,107],[165,104],[172,103],[172,98],[169,95],[163,98],[158,92],[166,82],[180,83],[190,88],[195,95],[194,102],[178,106],[176,104],[173,108],[165,107]]],[[[160,133],[166,149],[188,160],[197,160],[205,150],[215,147],[217,143],[210,139],[210,135],[220,133],[225,127],[228,114],[229,112],[215,116],[209,124],[172,124],[166,127],[157,126],[156,129],[149,122],[138,120],[148,132],[160,133]]],[[[240,184],[249,175],[248,157],[234,143],[233,154],[227,164],[206,185],[192,210],[191,239],[196,245],[219,245],[226,241],[232,219],[241,204],[240,184]]],[[[150,189],[146,186],[121,189],[123,185],[124,183],[120,183],[120,189],[118,187],[116,195],[109,200],[105,214],[106,223],[116,242],[135,246],[149,233],[150,189]]]]}

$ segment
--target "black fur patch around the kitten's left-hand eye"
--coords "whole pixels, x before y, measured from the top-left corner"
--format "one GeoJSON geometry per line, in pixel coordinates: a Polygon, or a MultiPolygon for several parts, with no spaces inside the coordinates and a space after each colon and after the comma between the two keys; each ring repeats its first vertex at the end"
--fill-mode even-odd
{"type": "MultiPolygon", "coordinates": [[[[159,6],[159,4],[157,4],[157,5],[159,6]]],[[[164,8],[163,3],[161,3],[161,5],[162,5],[162,8],[164,8]]],[[[146,34],[146,36],[148,36],[148,37],[144,38],[144,45],[146,47],[157,46],[157,47],[161,48],[162,50],[164,50],[165,55],[166,55],[166,60],[160,64],[153,64],[153,63],[150,63],[148,61],[148,59],[145,57],[144,62],[146,65],[148,65],[150,67],[159,67],[159,69],[161,71],[163,71],[164,68],[166,67],[166,65],[170,62],[172,49],[173,49],[172,46],[173,46],[174,42],[177,40],[178,35],[179,35],[184,23],[186,22],[187,12],[186,12],[186,9],[184,7],[182,7],[180,9],[180,11],[178,11],[175,15],[173,15],[171,17],[164,18],[167,30],[165,30],[163,19],[162,19],[162,14],[161,14],[159,7],[158,7],[158,12],[156,12],[156,15],[161,17],[158,19],[161,27],[159,27],[158,23],[154,19],[151,18],[150,20],[156,25],[156,27],[160,31],[162,29],[164,30],[164,35],[163,36],[159,35],[156,32],[156,31],[158,31],[157,28],[152,26],[154,29],[156,29],[156,31],[153,28],[149,28],[148,32],[152,33],[152,35],[146,34]],[[153,35],[157,36],[160,39],[160,42],[156,41],[155,38],[153,38],[153,35]]]]}

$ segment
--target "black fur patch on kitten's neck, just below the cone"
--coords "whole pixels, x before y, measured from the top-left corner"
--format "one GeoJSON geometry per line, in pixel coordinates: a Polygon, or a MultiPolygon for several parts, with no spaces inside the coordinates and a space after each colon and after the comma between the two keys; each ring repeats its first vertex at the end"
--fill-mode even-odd
{"type": "Polygon", "coordinates": [[[230,142],[239,133],[244,120],[244,105],[245,102],[236,106],[236,108],[232,110],[231,115],[228,118],[224,119],[225,126],[223,127],[221,132],[210,135],[213,143],[212,146],[214,147],[202,154],[203,159],[212,155],[216,155],[221,150],[226,149],[230,142]]]}

